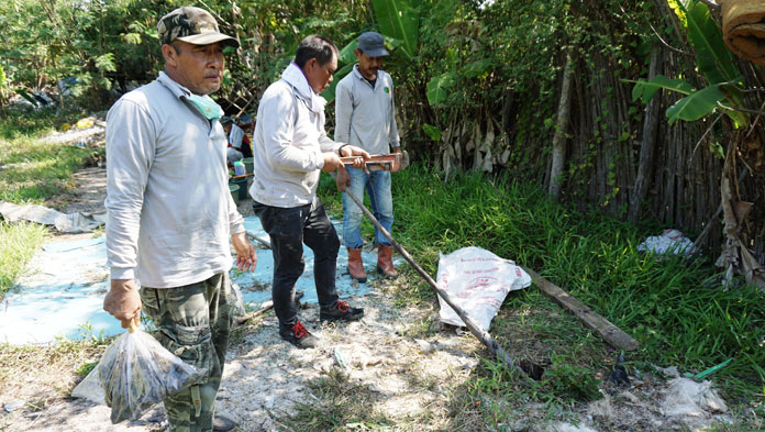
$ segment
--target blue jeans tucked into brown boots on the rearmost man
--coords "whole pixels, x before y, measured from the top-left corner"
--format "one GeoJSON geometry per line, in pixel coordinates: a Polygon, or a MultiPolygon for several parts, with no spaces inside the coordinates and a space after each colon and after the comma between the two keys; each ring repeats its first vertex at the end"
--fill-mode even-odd
{"type": "MultiPolygon", "coordinates": [[[[390,171],[364,173],[361,168],[346,168],[351,176],[348,190],[359,200],[364,200],[364,190],[369,193],[372,212],[388,233],[393,226],[393,197],[390,193],[390,171]]],[[[343,193],[343,243],[345,247],[359,248],[364,245],[362,240],[362,209],[343,193]]],[[[378,245],[391,246],[377,226],[375,226],[375,242],[378,245]]]]}

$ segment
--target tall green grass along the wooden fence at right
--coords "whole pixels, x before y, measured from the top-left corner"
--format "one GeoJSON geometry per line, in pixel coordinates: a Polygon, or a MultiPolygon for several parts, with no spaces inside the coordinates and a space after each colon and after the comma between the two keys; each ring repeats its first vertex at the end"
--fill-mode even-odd
{"type": "MultiPolygon", "coordinates": [[[[630,365],[653,363],[698,373],[733,357],[712,378],[729,397],[763,397],[765,293],[753,287],[723,290],[711,259],[658,261],[635,250],[656,232],[642,232],[597,212],[572,211],[552,203],[534,187],[505,178],[490,182],[481,175],[462,175],[444,184],[426,168],[409,168],[393,178],[393,236],[429,274],[436,273],[439,253],[484,247],[534,269],[639,340],[640,351],[628,353],[630,365]]],[[[328,208],[336,210],[334,184],[322,180],[320,192],[328,208]]],[[[492,322],[500,343],[512,341],[503,329],[518,328],[520,318],[513,310],[546,308],[537,295],[529,293],[533,291],[532,286],[506,301],[492,322]]],[[[434,292],[421,283],[401,296],[408,302],[432,301],[434,292]]],[[[554,304],[548,308],[562,311],[554,304]]],[[[541,314],[531,321],[540,334],[551,325],[550,318],[541,314]]],[[[567,362],[594,374],[613,363],[613,353],[589,364],[575,359],[570,346],[596,343],[601,346],[595,350],[601,352],[607,347],[591,341],[597,335],[579,331],[578,321],[568,321],[548,344],[566,348],[546,353],[548,361],[567,362]]]]}

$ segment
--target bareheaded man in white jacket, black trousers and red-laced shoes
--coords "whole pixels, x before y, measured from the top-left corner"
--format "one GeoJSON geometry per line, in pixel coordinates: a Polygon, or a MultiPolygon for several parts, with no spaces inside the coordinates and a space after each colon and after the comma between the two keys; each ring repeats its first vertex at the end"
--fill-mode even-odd
{"type": "Polygon", "coordinates": [[[336,143],[324,131],[324,104],[319,96],[332,82],[337,47],[312,35],[300,42],[295,60],[263,95],[253,134],[254,176],[250,195],[253,210],[270,236],[274,254],[271,293],[279,335],[300,347],[317,346],[298,320],[295,284],[304,269],[302,244],[313,251],[313,276],[321,321],[352,321],[363,309],[340,301],[335,270],[340,240],[324,206],[317,197],[320,171],[344,173],[341,156],[358,156],[364,167],[369,154],[336,143]]]}

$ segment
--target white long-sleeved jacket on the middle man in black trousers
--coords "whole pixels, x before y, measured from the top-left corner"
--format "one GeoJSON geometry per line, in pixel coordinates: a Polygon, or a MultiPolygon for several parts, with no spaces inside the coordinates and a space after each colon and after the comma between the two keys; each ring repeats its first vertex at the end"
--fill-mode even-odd
{"type": "Polygon", "coordinates": [[[325,104],[293,63],[268,86],[253,133],[250,195],[255,201],[281,208],[313,201],[324,166],[322,153],[341,146],[324,131],[325,104]]]}

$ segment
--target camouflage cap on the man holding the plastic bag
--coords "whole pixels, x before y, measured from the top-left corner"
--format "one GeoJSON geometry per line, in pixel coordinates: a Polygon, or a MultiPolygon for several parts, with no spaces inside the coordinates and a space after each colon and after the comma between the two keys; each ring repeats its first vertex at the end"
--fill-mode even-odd
{"type": "Polygon", "coordinates": [[[157,34],[163,45],[178,40],[195,45],[221,42],[239,48],[235,38],[218,31],[218,22],[208,11],[192,5],[178,8],[159,19],[157,34]]]}

